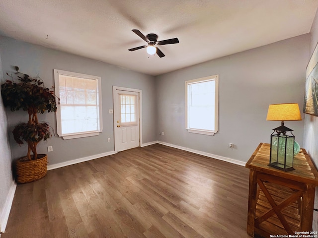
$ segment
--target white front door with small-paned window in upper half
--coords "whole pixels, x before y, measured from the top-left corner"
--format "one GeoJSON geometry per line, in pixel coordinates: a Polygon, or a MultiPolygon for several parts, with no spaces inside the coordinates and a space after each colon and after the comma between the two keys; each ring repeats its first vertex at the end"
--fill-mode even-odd
{"type": "Polygon", "coordinates": [[[139,90],[113,87],[115,151],[140,145],[139,90]]]}

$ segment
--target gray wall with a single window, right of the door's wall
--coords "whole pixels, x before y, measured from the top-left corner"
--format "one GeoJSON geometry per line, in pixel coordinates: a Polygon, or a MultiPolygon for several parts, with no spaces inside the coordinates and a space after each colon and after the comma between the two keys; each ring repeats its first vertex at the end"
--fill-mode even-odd
{"type": "MultiPolygon", "coordinates": [[[[157,76],[157,133],[164,132],[159,141],[246,162],[280,125],[266,121],[269,104],[298,103],[303,110],[309,40],[306,34],[157,76]],[[184,81],[214,74],[219,74],[219,131],[188,133],[184,81]]],[[[285,125],[303,146],[304,121],[285,125]]]]}

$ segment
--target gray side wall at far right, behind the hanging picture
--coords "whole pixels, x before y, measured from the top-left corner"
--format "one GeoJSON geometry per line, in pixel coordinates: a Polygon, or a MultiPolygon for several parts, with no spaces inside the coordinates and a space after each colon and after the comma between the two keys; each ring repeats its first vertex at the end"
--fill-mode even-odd
{"type": "MultiPolygon", "coordinates": [[[[318,12],[311,30],[310,38],[310,53],[309,58],[313,54],[314,49],[318,42],[318,12]]],[[[304,148],[307,150],[307,153],[311,156],[316,168],[318,168],[318,117],[312,115],[305,115],[305,125],[304,125],[304,148]]],[[[316,187],[316,196],[315,196],[315,208],[318,209],[318,187],[316,187]]],[[[314,211],[314,221],[313,221],[313,230],[318,231],[318,212],[314,211]]]]}

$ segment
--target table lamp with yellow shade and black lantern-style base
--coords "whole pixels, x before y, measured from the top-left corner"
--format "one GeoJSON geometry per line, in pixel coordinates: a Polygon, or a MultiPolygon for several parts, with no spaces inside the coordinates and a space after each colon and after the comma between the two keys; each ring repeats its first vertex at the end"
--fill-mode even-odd
{"type": "Polygon", "coordinates": [[[298,104],[271,104],[266,120],[282,121],[281,126],[273,129],[274,132],[270,136],[269,166],[283,171],[294,170],[295,136],[292,129],[284,126],[284,121],[302,120],[298,104]]]}

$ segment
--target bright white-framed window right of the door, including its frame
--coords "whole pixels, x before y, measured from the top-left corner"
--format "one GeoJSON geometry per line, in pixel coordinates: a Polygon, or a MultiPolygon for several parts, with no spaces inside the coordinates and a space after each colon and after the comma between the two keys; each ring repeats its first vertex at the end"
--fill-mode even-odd
{"type": "Polygon", "coordinates": [[[214,135],[218,131],[219,75],[185,82],[185,123],[192,133],[214,135]]]}

